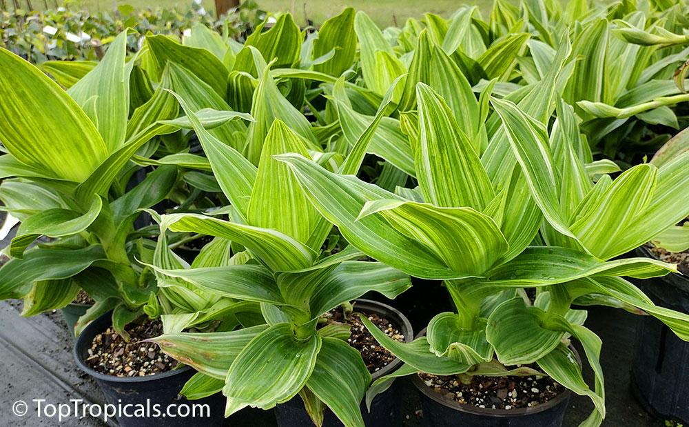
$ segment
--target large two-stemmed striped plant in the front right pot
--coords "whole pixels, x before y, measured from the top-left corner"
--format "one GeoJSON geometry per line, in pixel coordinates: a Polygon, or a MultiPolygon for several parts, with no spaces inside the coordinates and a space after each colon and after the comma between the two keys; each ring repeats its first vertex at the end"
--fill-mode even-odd
{"type": "MultiPolygon", "coordinates": [[[[672,189],[681,185],[683,178],[677,177],[689,174],[689,155],[659,170],[639,165],[615,181],[606,175],[593,183],[576,154],[582,139],[572,108],[561,100],[543,106],[547,110],[548,104],[557,104],[557,121],[548,137],[537,119],[510,101],[494,98],[491,103],[515,160],[508,182],[492,182],[444,99],[424,83],[416,90],[418,139],[412,143],[419,188],[406,193],[415,199],[333,174],[296,154],[277,157],[289,164],[314,206],[350,244],[410,275],[445,280],[457,312],[434,317],[426,337],[399,344],[374,328],[369,331],[408,365],[397,375],[461,373],[459,382],[477,375],[535,377],[532,370],[520,371],[526,365],[537,368],[539,376],[590,396],[596,410],[586,423],[598,425],[605,413],[598,362],[601,343],[582,326],[586,312],[570,306],[574,301],[615,301],[640,308],[679,337],[689,338],[689,317],[655,306],[619,277],[655,277],[675,271],[675,266],[646,258],[606,261],[686,217],[688,205],[672,189]],[[628,194],[644,196],[629,199],[628,194]],[[515,217],[512,209],[520,215],[515,217]],[[606,221],[610,226],[604,225],[606,221]],[[547,246],[529,246],[534,239],[547,246]],[[535,299],[525,297],[522,288],[537,288],[535,299]],[[570,336],[582,344],[593,366],[594,391],[584,383],[566,345],[570,336]]],[[[549,116],[548,112],[544,117],[549,116]]],[[[372,390],[377,389],[374,384],[372,390]]],[[[434,400],[444,398],[438,395],[434,400]]],[[[480,425],[497,425],[505,416],[531,422],[552,405],[514,415],[498,409],[514,408],[504,399],[495,410],[491,406],[478,411],[483,413],[480,425]]],[[[455,422],[477,412],[453,407],[455,422]]],[[[440,411],[430,413],[442,417],[440,411]]],[[[562,412],[551,414],[547,425],[561,420],[562,412]]]]}

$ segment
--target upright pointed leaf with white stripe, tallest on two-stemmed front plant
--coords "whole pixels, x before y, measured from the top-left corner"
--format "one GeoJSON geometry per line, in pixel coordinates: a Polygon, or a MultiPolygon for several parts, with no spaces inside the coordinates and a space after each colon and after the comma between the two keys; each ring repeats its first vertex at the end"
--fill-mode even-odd
{"type": "Polygon", "coordinates": [[[493,186],[452,112],[431,88],[416,87],[419,147],[416,175],[424,200],[436,206],[483,210],[493,199],[493,186]]]}

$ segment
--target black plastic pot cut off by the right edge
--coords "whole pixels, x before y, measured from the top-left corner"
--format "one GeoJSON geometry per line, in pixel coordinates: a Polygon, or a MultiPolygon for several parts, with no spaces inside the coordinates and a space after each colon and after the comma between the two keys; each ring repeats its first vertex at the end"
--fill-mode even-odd
{"type": "MultiPolygon", "coordinates": [[[[646,247],[637,256],[655,258],[646,247]]],[[[636,281],[659,306],[689,313],[689,277],[670,273],[636,281]]],[[[631,387],[634,396],[659,419],[689,423],[689,343],[655,317],[639,317],[631,387]]]]}

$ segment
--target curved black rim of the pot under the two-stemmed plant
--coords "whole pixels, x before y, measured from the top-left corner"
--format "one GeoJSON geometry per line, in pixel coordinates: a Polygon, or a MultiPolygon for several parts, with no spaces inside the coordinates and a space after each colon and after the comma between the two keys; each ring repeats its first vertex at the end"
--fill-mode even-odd
{"type": "MultiPolygon", "coordinates": [[[[421,332],[416,335],[415,338],[422,337],[426,335],[426,328],[424,328],[421,332]]],[[[575,357],[577,358],[577,362],[579,362],[579,366],[582,365],[582,359],[579,357],[579,352],[577,352],[577,349],[574,348],[572,344],[569,345],[570,350],[574,352],[575,357]]],[[[419,377],[418,374],[412,374],[410,375],[411,377],[411,383],[426,397],[429,397],[429,399],[432,399],[438,404],[441,404],[443,406],[446,406],[448,408],[458,410],[463,413],[469,413],[469,414],[474,414],[474,415],[483,415],[485,417],[495,417],[495,418],[507,418],[507,417],[520,417],[523,415],[532,415],[535,413],[541,413],[544,412],[548,409],[551,409],[559,404],[561,404],[563,401],[566,401],[567,399],[570,398],[572,395],[572,390],[565,388],[564,392],[560,393],[557,395],[554,399],[546,401],[544,404],[539,404],[536,406],[531,406],[530,408],[516,408],[516,409],[493,409],[493,408],[478,408],[477,406],[469,405],[469,404],[460,404],[460,402],[451,400],[451,399],[446,399],[440,393],[435,393],[435,391],[431,390],[429,386],[426,386],[424,381],[422,381],[421,377],[419,377]]]]}

